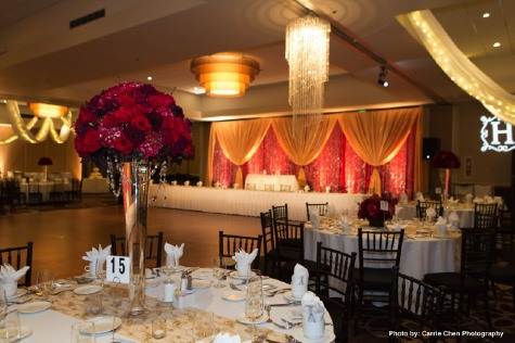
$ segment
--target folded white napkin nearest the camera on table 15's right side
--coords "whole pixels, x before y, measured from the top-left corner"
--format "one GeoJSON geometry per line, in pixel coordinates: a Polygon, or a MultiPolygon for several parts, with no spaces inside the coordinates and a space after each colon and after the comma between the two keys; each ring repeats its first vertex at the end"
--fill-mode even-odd
{"type": "Polygon", "coordinates": [[[306,292],[301,300],[302,329],[308,339],[320,339],[325,331],[325,307],[312,292],[306,292]]]}

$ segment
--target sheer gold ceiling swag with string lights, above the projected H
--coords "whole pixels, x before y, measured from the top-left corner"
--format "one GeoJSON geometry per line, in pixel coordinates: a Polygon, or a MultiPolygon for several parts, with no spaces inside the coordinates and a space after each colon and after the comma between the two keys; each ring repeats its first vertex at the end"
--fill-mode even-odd
{"type": "Polygon", "coordinates": [[[500,119],[515,125],[515,96],[479,69],[456,47],[429,10],[407,14],[410,27],[440,68],[500,119]]]}

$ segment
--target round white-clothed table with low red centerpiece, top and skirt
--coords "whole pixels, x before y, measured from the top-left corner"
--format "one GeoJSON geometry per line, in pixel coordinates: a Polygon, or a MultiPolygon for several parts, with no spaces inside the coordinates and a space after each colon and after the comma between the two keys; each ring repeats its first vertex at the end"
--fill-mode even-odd
{"type": "MultiPolygon", "coordinates": [[[[417,220],[402,220],[396,224],[404,228],[399,270],[408,276],[423,279],[428,272],[450,272],[460,268],[460,233],[450,232],[447,237],[437,237],[432,225],[417,220]],[[417,234],[425,230],[428,233],[417,234]]],[[[305,258],[317,259],[317,242],[323,246],[343,251],[347,254],[358,253],[358,228],[368,228],[368,221],[352,219],[350,229],[344,231],[338,219],[321,217],[318,228],[307,223],[304,233],[305,258]]],[[[392,228],[397,229],[397,228],[392,228]]]]}

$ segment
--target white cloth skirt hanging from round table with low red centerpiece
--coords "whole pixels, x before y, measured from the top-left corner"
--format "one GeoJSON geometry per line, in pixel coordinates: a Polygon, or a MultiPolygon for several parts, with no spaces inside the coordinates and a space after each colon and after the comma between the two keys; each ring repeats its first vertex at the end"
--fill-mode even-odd
{"type": "MultiPolygon", "coordinates": [[[[337,234],[306,228],[304,231],[305,258],[317,259],[317,242],[347,254],[358,253],[359,250],[356,234],[337,234]]],[[[422,279],[428,272],[458,271],[460,268],[459,245],[458,238],[408,239],[404,236],[399,270],[417,279],[422,279]]]]}

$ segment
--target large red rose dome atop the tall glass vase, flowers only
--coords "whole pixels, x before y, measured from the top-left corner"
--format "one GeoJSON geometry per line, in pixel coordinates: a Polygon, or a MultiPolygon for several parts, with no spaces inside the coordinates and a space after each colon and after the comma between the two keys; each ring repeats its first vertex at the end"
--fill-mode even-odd
{"type": "Polygon", "coordinates": [[[80,109],[75,132],[81,157],[193,157],[190,120],[171,96],[147,84],[124,82],[93,97],[80,109]]]}

